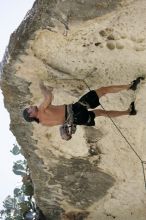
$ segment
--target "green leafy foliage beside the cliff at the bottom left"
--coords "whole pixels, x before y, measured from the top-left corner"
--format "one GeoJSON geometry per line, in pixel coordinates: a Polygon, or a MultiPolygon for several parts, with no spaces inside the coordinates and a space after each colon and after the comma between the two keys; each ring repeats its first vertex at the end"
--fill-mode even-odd
{"type": "MultiPolygon", "coordinates": [[[[17,145],[14,145],[12,151],[14,155],[20,153],[17,145]]],[[[14,189],[14,197],[7,196],[3,202],[3,209],[0,210],[0,219],[5,220],[24,220],[26,214],[36,214],[36,204],[33,199],[34,188],[27,166],[26,160],[17,160],[13,164],[13,172],[22,176],[22,186],[14,189]]],[[[38,218],[37,218],[38,219],[38,218]]]]}

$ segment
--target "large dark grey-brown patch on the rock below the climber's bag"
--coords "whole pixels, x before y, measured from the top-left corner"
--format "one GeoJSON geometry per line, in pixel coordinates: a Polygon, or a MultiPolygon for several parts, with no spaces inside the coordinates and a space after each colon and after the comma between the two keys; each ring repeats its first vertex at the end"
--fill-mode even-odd
{"type": "Polygon", "coordinates": [[[62,185],[68,202],[82,209],[102,198],[115,182],[112,176],[100,171],[88,160],[78,158],[64,159],[54,168],[54,177],[49,184],[56,181],[62,185]]]}

